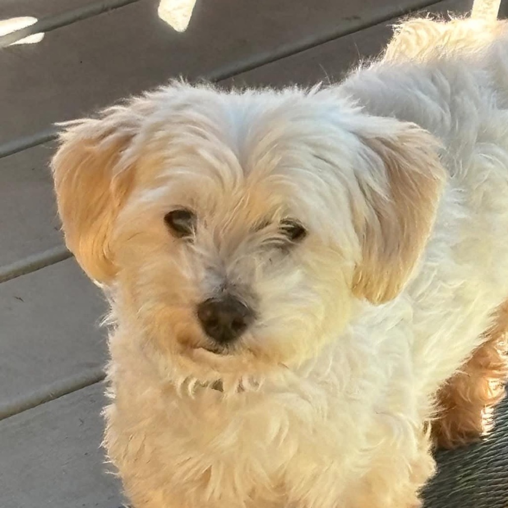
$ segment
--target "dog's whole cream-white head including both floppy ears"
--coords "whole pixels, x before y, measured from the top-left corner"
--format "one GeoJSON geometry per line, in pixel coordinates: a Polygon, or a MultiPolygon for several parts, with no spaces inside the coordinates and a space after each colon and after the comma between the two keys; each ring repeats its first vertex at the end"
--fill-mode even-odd
{"type": "Polygon", "coordinates": [[[62,135],[68,247],[183,375],[301,363],[417,263],[435,142],[339,96],[175,85],[62,135]]]}

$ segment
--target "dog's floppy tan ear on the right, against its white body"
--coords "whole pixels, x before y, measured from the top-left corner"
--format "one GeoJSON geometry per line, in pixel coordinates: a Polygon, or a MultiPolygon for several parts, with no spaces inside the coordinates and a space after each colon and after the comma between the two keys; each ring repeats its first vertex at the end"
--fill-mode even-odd
{"type": "Polygon", "coordinates": [[[369,131],[360,134],[365,152],[356,169],[364,200],[352,203],[362,251],[353,292],[379,304],[399,294],[419,261],[446,172],[437,140],[417,126],[383,119],[369,131]]]}

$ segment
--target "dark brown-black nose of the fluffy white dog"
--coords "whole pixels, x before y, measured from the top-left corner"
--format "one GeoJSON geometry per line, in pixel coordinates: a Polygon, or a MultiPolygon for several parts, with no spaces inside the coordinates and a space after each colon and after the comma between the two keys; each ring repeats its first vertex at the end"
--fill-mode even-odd
{"type": "Polygon", "coordinates": [[[209,298],[198,305],[198,318],[205,333],[220,344],[237,339],[252,323],[254,313],[237,298],[209,298]]]}

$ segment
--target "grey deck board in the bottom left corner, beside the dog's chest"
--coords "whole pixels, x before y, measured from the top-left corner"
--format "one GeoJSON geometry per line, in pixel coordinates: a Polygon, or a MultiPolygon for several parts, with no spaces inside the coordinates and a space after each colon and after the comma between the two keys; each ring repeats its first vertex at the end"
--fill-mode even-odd
{"type": "Polygon", "coordinates": [[[100,448],[104,404],[93,385],[0,422],[2,508],[118,508],[100,448]]]}

